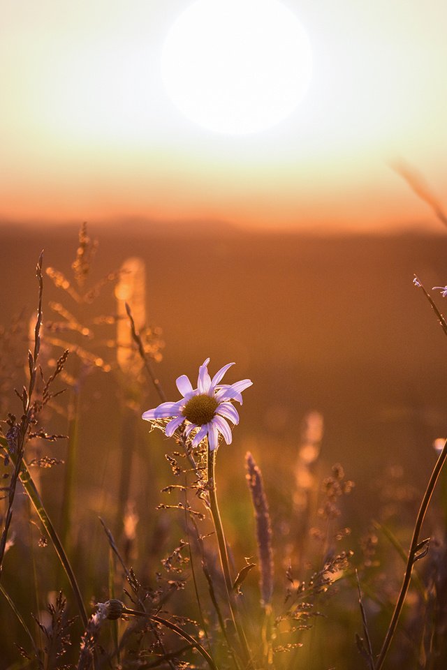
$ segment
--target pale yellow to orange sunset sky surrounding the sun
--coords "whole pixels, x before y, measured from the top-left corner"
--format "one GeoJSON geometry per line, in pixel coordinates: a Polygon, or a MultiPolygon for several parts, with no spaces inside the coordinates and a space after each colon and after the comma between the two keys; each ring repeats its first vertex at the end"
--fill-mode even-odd
{"type": "Polygon", "coordinates": [[[445,0],[283,4],[309,40],[307,92],[276,125],[223,135],[187,118],[161,74],[190,0],[0,0],[0,224],[438,230],[392,165],[443,202],[445,0]]]}

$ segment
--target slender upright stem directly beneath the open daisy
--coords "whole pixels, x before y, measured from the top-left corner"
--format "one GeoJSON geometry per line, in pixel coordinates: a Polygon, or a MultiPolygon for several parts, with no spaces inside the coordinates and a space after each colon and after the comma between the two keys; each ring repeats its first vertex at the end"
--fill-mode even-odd
{"type": "Polygon", "coordinates": [[[216,465],[216,451],[210,449],[208,445],[208,458],[207,458],[207,475],[208,475],[208,492],[210,494],[210,510],[211,516],[214,523],[214,529],[216,530],[217,544],[219,546],[219,557],[221,560],[221,568],[223,572],[223,579],[225,581],[226,595],[228,600],[228,606],[231,612],[231,618],[235,625],[235,630],[237,631],[237,636],[240,640],[240,646],[242,651],[242,662],[244,667],[253,668],[251,663],[249,647],[247,644],[247,638],[245,637],[244,629],[240,624],[239,618],[237,616],[237,610],[234,601],[233,593],[233,581],[230,574],[230,564],[228,561],[228,551],[226,548],[226,539],[223,533],[223,526],[221,521],[221,515],[219,512],[219,505],[217,503],[217,490],[216,490],[216,477],[215,477],[215,465],[216,465]]]}

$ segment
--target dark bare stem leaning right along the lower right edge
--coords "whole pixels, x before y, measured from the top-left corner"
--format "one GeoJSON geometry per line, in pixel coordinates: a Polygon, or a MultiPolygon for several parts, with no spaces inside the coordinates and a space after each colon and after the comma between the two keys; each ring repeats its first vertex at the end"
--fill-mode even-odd
{"type": "Polygon", "coordinates": [[[383,662],[385,661],[386,655],[388,653],[388,649],[390,648],[391,641],[393,640],[393,636],[395,634],[395,630],[397,627],[397,622],[399,621],[400,615],[402,613],[402,607],[404,606],[406,593],[409,589],[413,565],[416,563],[416,560],[418,560],[419,558],[423,558],[423,556],[425,556],[426,550],[428,548],[427,540],[423,542],[420,542],[419,540],[420,530],[422,528],[428,506],[430,505],[430,500],[432,498],[434,487],[437,484],[438,477],[441,473],[442,467],[444,466],[446,459],[447,459],[447,440],[446,443],[444,444],[444,448],[442,449],[441,454],[439,454],[439,458],[437,460],[436,465],[433,468],[432,475],[430,476],[430,480],[427,484],[427,489],[425,489],[423,500],[420,503],[418,516],[416,517],[416,523],[413,530],[413,537],[411,539],[408,559],[406,561],[404,581],[402,581],[402,586],[400,588],[399,597],[397,598],[393,617],[391,618],[390,625],[388,626],[388,630],[386,632],[386,636],[383,641],[381,652],[376,662],[375,670],[381,670],[383,662]]]}

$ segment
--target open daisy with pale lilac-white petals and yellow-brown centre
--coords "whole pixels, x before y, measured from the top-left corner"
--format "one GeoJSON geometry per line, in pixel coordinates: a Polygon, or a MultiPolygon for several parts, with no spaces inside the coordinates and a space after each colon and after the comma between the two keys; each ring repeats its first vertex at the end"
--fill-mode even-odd
{"type": "Polygon", "coordinates": [[[175,384],[182,394],[182,399],[176,403],[161,403],[154,410],[144,412],[142,418],[145,421],[169,418],[170,421],[164,429],[168,437],[184,424],[186,437],[196,431],[192,440],[193,447],[197,447],[207,437],[208,445],[211,451],[214,451],[219,446],[219,433],[227,445],[231,444],[232,434],[228,421],[234,425],[239,423],[239,415],[231,401],[237,401],[242,405],[242,391],[253,382],[243,379],[234,384],[219,385],[223,375],[234,363],[224,365],[211,378],[208,373],[209,362],[210,359],[207,358],[198,370],[196,389],[193,389],[186,375],[181,375],[175,380],[175,384]]]}

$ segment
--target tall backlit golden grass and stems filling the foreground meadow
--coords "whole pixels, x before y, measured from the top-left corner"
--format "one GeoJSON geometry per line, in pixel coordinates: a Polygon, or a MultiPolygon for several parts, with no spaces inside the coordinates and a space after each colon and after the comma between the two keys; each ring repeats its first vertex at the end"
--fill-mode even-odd
{"type": "MultiPolygon", "coordinates": [[[[64,295],[64,301],[48,305],[59,321],[43,318],[47,304],[43,257],[39,258],[26,380],[15,396],[1,399],[2,407],[18,401],[19,412],[6,414],[0,435],[0,668],[444,667],[447,616],[442,598],[447,572],[440,557],[445,556],[446,528],[445,523],[434,531],[425,527],[447,443],[434,464],[412,530],[400,529],[404,537],[412,533],[407,551],[402,533],[397,537],[386,523],[371,526],[368,510],[364,512],[369,530],[361,538],[353,537],[346,519],[346,496],[355,495],[353,482],[342,466],[328,468],[321,460],[323,417],[318,412],[302,419],[295,462],[282,469],[278,464],[277,472],[292,475],[291,480],[284,477],[292,484],[281,496],[275,495],[270,472],[261,472],[251,453],[244,471],[229,447],[213,451],[206,438],[192,447],[188,435],[179,430],[166,440],[161,433],[164,419],[152,426],[160,431],[143,433],[139,415],[147,403],[166,401],[163,368],[156,368],[161,362],[161,332],[147,325],[140,261],[128,260],[119,271],[87,287],[96,247],[83,225],[73,280],[59,270],[47,271],[64,295]],[[93,311],[102,290],[111,293],[108,315],[93,311]],[[66,300],[74,303],[73,311],[66,300]],[[101,328],[108,329],[106,336],[96,332],[101,328]],[[48,347],[45,357],[43,342],[48,347]],[[103,463],[102,472],[108,472],[103,479],[98,461],[91,457],[95,445],[82,430],[83,402],[89,402],[95,384],[101,386],[100,378],[94,377],[99,374],[107,375],[117,407],[117,417],[110,417],[113,431],[101,426],[116,464],[107,470],[103,463]],[[62,393],[66,386],[71,396],[62,393]],[[117,420],[112,423],[112,418],[117,420]],[[47,425],[52,422],[65,422],[67,435],[52,431],[47,425]],[[66,462],[61,463],[51,449],[66,437],[66,462]],[[37,440],[49,453],[35,458],[30,446],[37,440]],[[159,472],[161,459],[147,455],[147,442],[153,452],[166,450],[168,480],[159,472]],[[91,492],[76,464],[89,458],[89,486],[98,488],[103,481],[105,502],[101,519],[96,514],[94,522],[98,540],[91,535],[92,527],[83,532],[81,521],[91,505],[91,492]],[[233,459],[231,481],[220,470],[226,459],[233,459]],[[146,463],[157,465],[145,470],[146,463]],[[50,467],[64,480],[54,491],[44,477],[41,482],[33,476],[50,467]],[[243,479],[247,496],[232,499],[232,483],[243,479]],[[27,505],[17,505],[23,496],[34,516],[27,505]],[[141,500],[159,504],[145,507],[141,500]],[[284,519],[279,519],[277,500],[286,507],[284,519]],[[233,523],[231,506],[237,510],[233,523]],[[281,533],[280,528],[287,530],[281,533]],[[404,579],[390,588],[400,576],[403,559],[404,579]],[[44,602],[46,607],[41,606],[44,602]]],[[[436,302],[419,280],[416,285],[447,334],[436,302]]],[[[262,455],[257,460],[262,461],[262,455]]]]}

